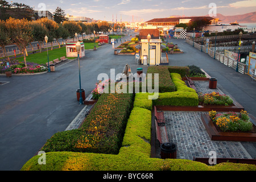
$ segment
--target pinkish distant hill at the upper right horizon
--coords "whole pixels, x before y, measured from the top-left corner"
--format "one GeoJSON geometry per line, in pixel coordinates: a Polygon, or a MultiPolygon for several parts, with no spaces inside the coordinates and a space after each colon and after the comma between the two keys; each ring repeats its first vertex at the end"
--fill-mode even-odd
{"type": "Polygon", "coordinates": [[[252,13],[246,13],[243,15],[232,15],[232,16],[217,14],[216,18],[220,18],[220,20],[222,21],[220,23],[232,23],[235,21],[237,21],[238,23],[256,23],[256,11],[252,13]]]}

